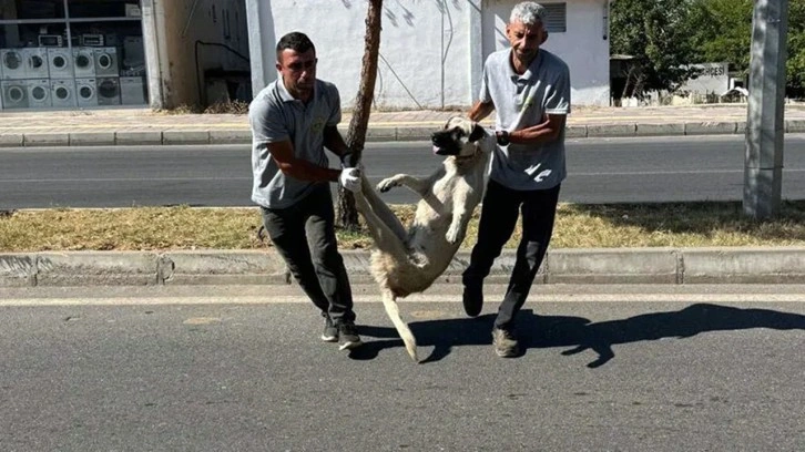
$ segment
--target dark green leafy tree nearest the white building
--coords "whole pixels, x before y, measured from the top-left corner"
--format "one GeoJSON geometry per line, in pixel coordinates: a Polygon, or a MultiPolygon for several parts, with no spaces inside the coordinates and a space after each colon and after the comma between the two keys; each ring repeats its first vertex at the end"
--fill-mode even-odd
{"type": "Polygon", "coordinates": [[[691,74],[694,55],[686,27],[691,0],[614,0],[612,52],[634,58],[623,93],[673,91],[691,74]]]}

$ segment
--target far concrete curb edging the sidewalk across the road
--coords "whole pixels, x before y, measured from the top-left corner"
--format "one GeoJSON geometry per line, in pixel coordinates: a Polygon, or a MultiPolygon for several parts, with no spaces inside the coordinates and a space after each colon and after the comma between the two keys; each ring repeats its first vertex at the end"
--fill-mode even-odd
{"type": "MultiPolygon", "coordinates": [[[[339,130],[346,133],[347,126],[339,130]]],[[[430,140],[430,126],[375,126],[369,124],[367,142],[430,140]]],[[[636,137],[636,136],[694,136],[736,135],[746,131],[745,121],[713,121],[687,123],[613,123],[571,124],[568,138],[636,137]]],[[[786,133],[805,133],[805,120],[785,122],[786,133]]],[[[0,146],[112,146],[112,145],[181,145],[181,144],[248,144],[251,133],[245,129],[233,130],[177,130],[118,131],[118,132],[54,132],[0,135],[0,146]]]]}

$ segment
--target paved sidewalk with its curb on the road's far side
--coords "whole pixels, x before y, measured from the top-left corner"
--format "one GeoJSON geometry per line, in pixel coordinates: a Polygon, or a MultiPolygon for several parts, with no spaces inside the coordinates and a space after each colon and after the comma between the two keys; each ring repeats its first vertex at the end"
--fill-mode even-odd
{"type": "MultiPolygon", "coordinates": [[[[373,112],[367,141],[429,140],[463,112],[373,112]]],[[[346,131],[351,115],[339,127],[346,131]]],[[[805,133],[805,105],[786,106],[787,133],[805,133]]],[[[483,122],[491,125],[491,120],[483,122]]],[[[742,134],[746,104],[661,107],[579,106],[568,117],[569,138],[742,134]]],[[[167,114],[149,109],[20,111],[0,113],[0,146],[235,144],[251,140],[245,115],[167,114]]]]}

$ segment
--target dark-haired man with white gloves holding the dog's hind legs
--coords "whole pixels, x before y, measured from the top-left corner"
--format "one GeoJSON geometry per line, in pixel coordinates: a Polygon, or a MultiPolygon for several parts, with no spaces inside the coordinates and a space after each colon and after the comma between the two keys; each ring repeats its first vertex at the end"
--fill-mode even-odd
{"type": "Polygon", "coordinates": [[[358,347],[353,295],[335,236],[329,183],[357,189],[357,168],[329,168],[324,148],[347,162],[336,129],[342,119],[335,85],[316,79],[316,49],[304,33],[277,42],[277,81],[252,101],[252,201],[294,278],[325,318],[322,340],[358,347]]]}

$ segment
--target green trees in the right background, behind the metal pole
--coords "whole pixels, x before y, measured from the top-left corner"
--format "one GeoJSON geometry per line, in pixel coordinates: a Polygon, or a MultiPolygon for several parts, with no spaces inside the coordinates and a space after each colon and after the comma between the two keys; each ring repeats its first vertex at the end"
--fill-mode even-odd
{"type": "MultiPolygon", "coordinates": [[[[753,0],[614,0],[611,53],[629,55],[631,69],[615,96],[674,91],[692,63],[726,62],[731,75],[748,76],[753,0]]],[[[788,1],[786,96],[805,97],[805,0],[788,1]]],[[[721,93],[716,93],[721,94],[721,93]]]]}

